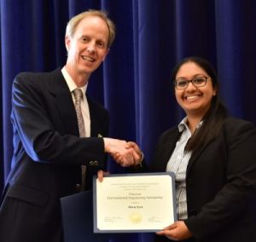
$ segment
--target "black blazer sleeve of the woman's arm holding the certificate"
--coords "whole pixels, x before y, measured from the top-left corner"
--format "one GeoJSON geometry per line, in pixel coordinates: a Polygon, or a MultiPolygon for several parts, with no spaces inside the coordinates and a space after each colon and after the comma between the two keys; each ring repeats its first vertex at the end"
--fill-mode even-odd
{"type": "Polygon", "coordinates": [[[221,136],[226,143],[226,182],[196,216],[184,221],[199,240],[221,233],[232,222],[248,216],[256,201],[256,130],[253,124],[232,119],[224,125],[221,136]]]}

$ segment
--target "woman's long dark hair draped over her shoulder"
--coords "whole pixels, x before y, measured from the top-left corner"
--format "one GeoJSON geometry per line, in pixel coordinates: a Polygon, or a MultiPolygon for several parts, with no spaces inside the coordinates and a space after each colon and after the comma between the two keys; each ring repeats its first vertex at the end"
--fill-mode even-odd
{"type": "Polygon", "coordinates": [[[209,77],[212,79],[213,89],[217,90],[216,95],[212,96],[211,107],[202,118],[203,124],[201,125],[201,128],[195,131],[185,148],[186,151],[196,151],[218,136],[224,123],[224,118],[227,117],[228,112],[226,107],[224,107],[224,104],[219,100],[217,73],[207,60],[197,56],[183,59],[174,67],[172,71],[172,81],[175,81],[180,67],[187,62],[194,62],[197,66],[200,66],[205,72],[207,72],[209,77]]]}

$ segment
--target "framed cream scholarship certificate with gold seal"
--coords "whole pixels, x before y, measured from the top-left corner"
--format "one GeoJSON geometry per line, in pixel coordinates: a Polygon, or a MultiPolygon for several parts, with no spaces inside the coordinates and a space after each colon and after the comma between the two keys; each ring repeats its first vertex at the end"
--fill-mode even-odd
{"type": "Polygon", "coordinates": [[[93,180],[94,232],[156,232],[177,220],[172,172],[108,175],[93,180]]]}

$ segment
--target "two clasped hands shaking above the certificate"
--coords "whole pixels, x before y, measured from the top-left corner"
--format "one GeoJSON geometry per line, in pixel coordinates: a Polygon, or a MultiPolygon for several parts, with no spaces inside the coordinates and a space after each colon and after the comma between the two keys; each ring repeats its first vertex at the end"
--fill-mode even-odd
{"type": "Polygon", "coordinates": [[[105,152],[123,167],[136,166],[143,161],[143,153],[135,142],[103,138],[105,152]]]}

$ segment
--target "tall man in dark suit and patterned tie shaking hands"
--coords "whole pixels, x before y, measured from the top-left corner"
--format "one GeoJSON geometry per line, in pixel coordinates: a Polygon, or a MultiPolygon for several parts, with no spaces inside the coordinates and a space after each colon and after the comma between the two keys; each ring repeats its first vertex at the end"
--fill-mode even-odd
{"type": "Polygon", "coordinates": [[[81,191],[81,170],[86,167],[83,189],[89,189],[92,175],[106,168],[106,153],[121,154],[117,162],[123,166],[138,164],[139,155],[125,141],[107,138],[107,110],[85,95],[113,38],[106,14],[79,14],[67,24],[66,66],[15,78],[14,156],[1,199],[1,242],[62,241],[60,199],[81,191]],[[84,135],[79,135],[74,89],[83,94],[84,135]]]}

